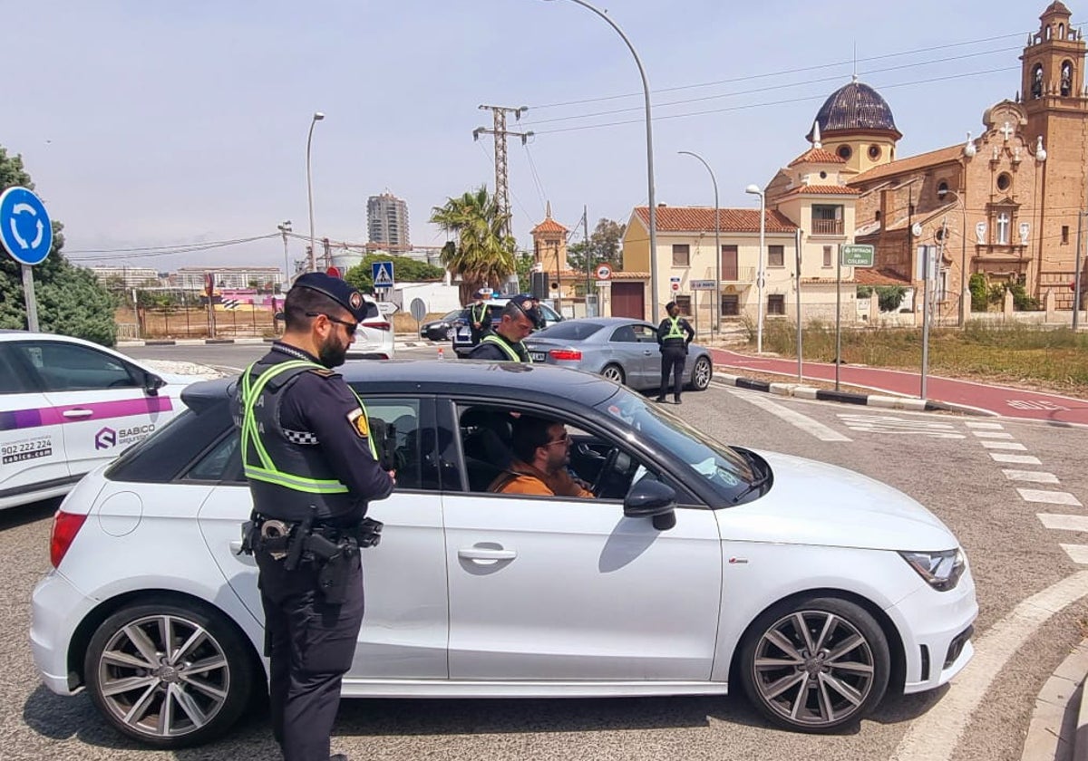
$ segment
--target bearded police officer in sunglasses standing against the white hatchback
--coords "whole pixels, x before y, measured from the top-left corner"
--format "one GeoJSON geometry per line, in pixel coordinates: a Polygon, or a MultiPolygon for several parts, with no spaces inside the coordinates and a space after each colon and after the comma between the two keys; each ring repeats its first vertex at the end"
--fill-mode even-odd
{"type": "Polygon", "coordinates": [[[332,370],[364,314],[362,296],[343,280],[300,276],[284,303],[283,338],[246,370],[236,396],[254,497],[243,550],[260,569],[272,733],[285,761],[330,759],[362,624],[359,549],[380,538],[367,504],[395,483],[361,400],[332,370]]]}

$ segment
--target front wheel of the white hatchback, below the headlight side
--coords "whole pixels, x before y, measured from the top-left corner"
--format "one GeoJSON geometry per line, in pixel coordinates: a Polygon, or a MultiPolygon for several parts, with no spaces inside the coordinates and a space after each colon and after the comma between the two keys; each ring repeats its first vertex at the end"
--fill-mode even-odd
{"type": "Polygon", "coordinates": [[[759,616],[741,650],[740,676],[749,699],[774,723],[830,732],[880,702],[890,666],[888,641],[869,613],[819,598],[759,616]]]}

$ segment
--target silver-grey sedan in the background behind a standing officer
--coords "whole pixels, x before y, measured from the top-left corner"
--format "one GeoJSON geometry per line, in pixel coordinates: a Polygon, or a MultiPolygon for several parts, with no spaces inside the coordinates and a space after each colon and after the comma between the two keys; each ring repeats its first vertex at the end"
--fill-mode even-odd
{"type": "MultiPolygon", "coordinates": [[[[657,328],[631,317],[566,320],[526,339],[533,362],[597,373],[631,388],[658,388],[662,354],[657,328]]],[[[702,391],[710,385],[714,363],[706,347],[692,344],[684,364],[687,388],[702,391]]]]}

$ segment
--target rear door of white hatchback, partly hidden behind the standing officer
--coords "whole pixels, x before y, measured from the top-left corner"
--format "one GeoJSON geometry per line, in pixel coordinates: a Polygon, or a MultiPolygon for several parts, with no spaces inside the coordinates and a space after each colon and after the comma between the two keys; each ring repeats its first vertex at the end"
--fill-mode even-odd
{"type": "MultiPolygon", "coordinates": [[[[385,526],[381,544],[362,551],[366,614],[348,679],[445,679],[448,611],[433,401],[369,399],[367,411],[372,431],[379,420],[390,431],[397,488],[372,502],[367,512],[385,526]]],[[[232,431],[202,459],[209,466],[197,463],[187,477],[217,482],[200,507],[200,531],[231,590],[263,622],[256,562],[237,553],[242,524],[252,509],[237,446],[238,436],[232,431]],[[215,461],[227,460],[233,470],[220,483],[215,461]]]]}

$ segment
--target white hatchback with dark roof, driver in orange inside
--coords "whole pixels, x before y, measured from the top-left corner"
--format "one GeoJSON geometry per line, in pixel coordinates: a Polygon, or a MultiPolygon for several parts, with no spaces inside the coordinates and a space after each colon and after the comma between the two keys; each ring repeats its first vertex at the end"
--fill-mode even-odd
{"type": "MultiPolygon", "coordinates": [[[[397,489],[370,507],[349,697],[725,695],[771,722],[854,725],[970,659],[956,538],[856,473],[726,446],[615,382],[509,362],[345,367],[397,489]],[[566,425],[596,499],[491,494],[511,415],[566,425]]],[[[231,379],[84,478],[55,516],[30,638],[46,685],[89,691],[158,747],[225,732],[265,689],[231,379]]]]}

